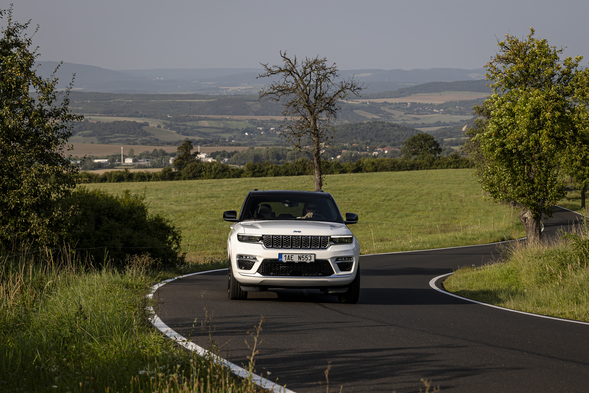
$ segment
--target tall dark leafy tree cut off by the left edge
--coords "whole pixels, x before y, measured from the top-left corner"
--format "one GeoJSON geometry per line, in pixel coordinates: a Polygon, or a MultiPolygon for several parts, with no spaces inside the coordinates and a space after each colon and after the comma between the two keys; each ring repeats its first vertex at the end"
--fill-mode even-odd
{"type": "Polygon", "coordinates": [[[55,72],[37,75],[28,23],[12,21],[12,9],[2,16],[8,24],[0,38],[0,249],[47,245],[62,239],[72,212],[64,201],[78,169],[62,150],[72,121],[82,117],[68,109],[71,83],[58,95],[55,72]]]}

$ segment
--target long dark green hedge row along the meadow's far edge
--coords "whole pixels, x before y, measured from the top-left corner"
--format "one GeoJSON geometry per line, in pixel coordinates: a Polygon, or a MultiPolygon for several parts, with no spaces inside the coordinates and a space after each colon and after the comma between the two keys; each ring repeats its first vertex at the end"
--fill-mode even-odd
{"type": "MultiPolygon", "coordinates": [[[[466,157],[451,154],[448,157],[436,157],[422,160],[405,160],[403,158],[361,158],[354,163],[323,161],[324,174],[394,172],[424,169],[459,169],[471,168],[472,163],[466,157]]],[[[293,163],[271,164],[264,162],[247,163],[237,168],[217,162],[188,164],[181,171],[166,167],[157,172],[110,171],[102,175],[92,172],[81,172],[80,183],[121,183],[124,181],[170,181],[200,179],[236,179],[239,177],[278,177],[302,176],[311,174],[309,163],[299,159],[293,163]]]]}

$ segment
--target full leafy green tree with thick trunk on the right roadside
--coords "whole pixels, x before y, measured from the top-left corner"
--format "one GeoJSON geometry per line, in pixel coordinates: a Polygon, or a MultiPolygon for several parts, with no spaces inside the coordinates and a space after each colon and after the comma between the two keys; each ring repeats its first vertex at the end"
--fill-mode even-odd
{"type": "Polygon", "coordinates": [[[485,65],[493,94],[476,109],[486,118],[470,131],[475,173],[489,196],[522,206],[529,240],[541,239],[542,214],[565,196],[561,169],[571,146],[584,143],[575,128],[575,74],[581,57],[560,60],[562,49],[545,39],[506,35],[485,65]]]}

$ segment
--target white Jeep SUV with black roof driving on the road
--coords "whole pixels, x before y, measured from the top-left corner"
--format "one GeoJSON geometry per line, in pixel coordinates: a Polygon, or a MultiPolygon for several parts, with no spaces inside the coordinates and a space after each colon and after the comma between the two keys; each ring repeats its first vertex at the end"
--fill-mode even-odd
{"type": "Polygon", "coordinates": [[[247,194],[227,239],[229,299],[269,288],[316,288],[356,303],[360,295],[360,245],[331,194],[324,191],[258,191],[247,194]]]}

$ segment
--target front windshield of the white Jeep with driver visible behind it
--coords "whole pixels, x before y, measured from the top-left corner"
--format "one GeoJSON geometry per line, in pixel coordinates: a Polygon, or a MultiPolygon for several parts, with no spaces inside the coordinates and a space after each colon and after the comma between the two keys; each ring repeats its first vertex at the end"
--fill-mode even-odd
{"type": "Polygon", "coordinates": [[[332,199],[288,195],[250,196],[241,220],[342,222],[332,199]]]}

